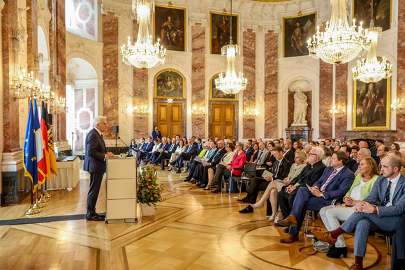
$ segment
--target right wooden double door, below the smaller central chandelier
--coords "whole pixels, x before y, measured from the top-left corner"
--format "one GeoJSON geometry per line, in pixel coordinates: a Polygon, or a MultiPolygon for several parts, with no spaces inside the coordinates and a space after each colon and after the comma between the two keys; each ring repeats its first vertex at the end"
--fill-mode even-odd
{"type": "Polygon", "coordinates": [[[212,138],[233,140],[235,137],[235,105],[212,104],[212,138]]]}

